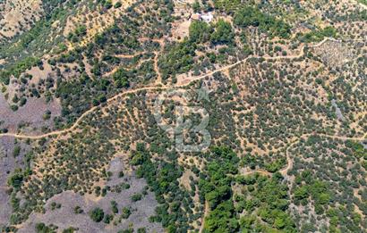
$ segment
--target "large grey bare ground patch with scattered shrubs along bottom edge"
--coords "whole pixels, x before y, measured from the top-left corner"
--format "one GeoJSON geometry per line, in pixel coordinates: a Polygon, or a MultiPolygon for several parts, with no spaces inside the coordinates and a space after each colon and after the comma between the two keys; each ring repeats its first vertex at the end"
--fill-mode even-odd
{"type": "Polygon", "coordinates": [[[113,187],[121,182],[128,183],[130,188],[124,189],[121,193],[107,192],[107,196],[92,200],[75,194],[73,191],[65,191],[57,196],[47,200],[45,204],[46,213],[33,212],[28,221],[26,221],[18,232],[35,232],[35,224],[44,222],[45,224],[54,224],[58,226],[58,230],[67,229],[69,227],[79,228],[78,232],[117,232],[119,229],[137,229],[146,228],[147,232],[164,232],[158,223],[150,223],[149,216],[155,214],[157,201],[152,193],[142,196],[141,201],[132,202],[132,195],[141,193],[147,183],[144,179],[136,179],[133,172],[124,171],[127,174],[124,178],[118,177],[118,171],[124,170],[124,164],[120,158],[115,158],[110,165],[108,171],[113,172],[113,176],[107,181],[107,185],[113,187]],[[113,222],[106,224],[103,221],[94,222],[90,219],[89,212],[96,207],[104,210],[105,214],[112,214],[111,201],[115,201],[118,205],[119,213],[115,215],[115,219],[119,218],[121,210],[127,207],[132,214],[128,219],[122,219],[121,223],[115,225],[113,222]],[[51,210],[52,203],[61,204],[61,208],[51,210]],[[75,214],[75,206],[80,206],[83,210],[81,214],[75,214]]]}

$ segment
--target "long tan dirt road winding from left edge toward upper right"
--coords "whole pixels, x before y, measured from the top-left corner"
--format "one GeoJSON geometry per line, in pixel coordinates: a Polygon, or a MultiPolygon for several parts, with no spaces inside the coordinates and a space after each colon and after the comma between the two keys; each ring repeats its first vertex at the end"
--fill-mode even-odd
{"type": "MultiPolygon", "coordinates": [[[[144,38],[142,38],[142,39],[144,39],[144,38]]],[[[328,40],[334,40],[335,41],[336,39],[335,38],[326,37],[320,43],[318,43],[316,45],[313,45],[311,47],[321,46],[323,43],[325,43],[328,40]]],[[[155,42],[158,42],[159,43],[159,42],[162,41],[162,39],[153,39],[152,41],[155,41],[155,42]]],[[[241,63],[247,62],[251,58],[263,58],[265,60],[281,60],[281,59],[300,58],[304,54],[304,47],[305,46],[302,46],[301,53],[298,54],[298,55],[289,55],[289,56],[286,55],[286,56],[277,56],[277,57],[261,57],[261,56],[256,56],[256,55],[248,56],[247,58],[245,58],[245,59],[243,59],[241,61],[235,62],[235,63],[230,64],[230,65],[226,65],[226,66],[224,66],[222,68],[218,68],[215,71],[210,71],[209,73],[206,73],[204,75],[201,75],[201,76],[198,76],[198,77],[193,77],[188,82],[179,83],[177,85],[170,86],[170,87],[169,86],[161,87],[161,85],[158,85],[158,86],[150,86],[150,87],[139,87],[139,88],[136,88],[136,89],[127,90],[127,91],[124,91],[123,93],[120,93],[120,94],[118,94],[116,96],[113,96],[113,97],[109,98],[107,100],[107,104],[113,102],[118,97],[126,96],[126,95],[129,95],[129,94],[134,94],[134,93],[137,93],[137,92],[140,92],[140,91],[143,91],[143,90],[162,90],[162,89],[168,89],[168,88],[186,87],[186,86],[189,86],[194,81],[197,81],[197,80],[200,80],[200,79],[205,79],[205,78],[207,78],[209,76],[214,75],[215,73],[218,73],[218,72],[221,72],[221,71],[227,71],[229,69],[232,69],[232,68],[234,68],[235,66],[237,66],[237,65],[239,65],[241,63]]],[[[43,135],[38,135],[38,136],[22,135],[22,134],[18,134],[18,133],[3,133],[3,134],[0,134],[0,137],[16,137],[16,138],[23,138],[23,139],[27,139],[27,138],[30,138],[30,139],[40,139],[40,138],[43,138],[43,137],[52,137],[52,136],[62,135],[62,134],[71,132],[74,129],[76,129],[78,127],[79,123],[88,114],[90,114],[90,112],[93,112],[96,109],[98,109],[98,107],[100,107],[100,106],[99,105],[98,106],[94,106],[94,107],[90,108],[90,110],[88,110],[87,112],[82,113],[81,116],[78,118],[78,120],[75,121],[73,123],[73,126],[71,128],[69,128],[69,129],[56,130],[56,131],[49,132],[49,133],[46,133],[46,134],[43,134],[43,135]]]]}

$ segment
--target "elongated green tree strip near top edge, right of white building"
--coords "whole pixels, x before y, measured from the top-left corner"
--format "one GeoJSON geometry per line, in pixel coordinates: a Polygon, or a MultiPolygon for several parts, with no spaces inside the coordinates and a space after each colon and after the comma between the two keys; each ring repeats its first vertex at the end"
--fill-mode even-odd
{"type": "Polygon", "coordinates": [[[245,6],[235,12],[234,23],[237,26],[247,28],[259,27],[267,32],[270,37],[287,38],[290,36],[290,26],[286,22],[277,20],[274,16],[260,12],[259,8],[245,6]]]}

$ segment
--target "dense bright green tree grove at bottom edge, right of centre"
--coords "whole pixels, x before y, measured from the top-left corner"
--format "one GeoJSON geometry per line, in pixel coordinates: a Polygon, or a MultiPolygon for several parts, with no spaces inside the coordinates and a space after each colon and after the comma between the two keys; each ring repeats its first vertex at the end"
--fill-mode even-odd
{"type": "Polygon", "coordinates": [[[205,232],[295,232],[294,220],[287,212],[288,189],[279,173],[272,178],[238,175],[240,160],[225,146],[212,148],[206,158],[208,163],[199,181],[201,196],[210,209],[205,232]],[[235,184],[243,191],[234,193],[235,184]],[[238,218],[240,214],[244,216],[238,218]]]}

